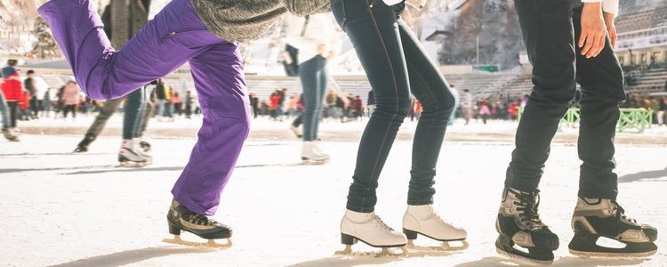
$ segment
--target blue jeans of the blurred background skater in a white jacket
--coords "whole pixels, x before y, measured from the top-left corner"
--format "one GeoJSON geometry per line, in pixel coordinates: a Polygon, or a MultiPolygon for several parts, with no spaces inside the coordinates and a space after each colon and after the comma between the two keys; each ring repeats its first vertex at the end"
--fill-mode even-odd
{"type": "Polygon", "coordinates": [[[326,93],[326,60],[316,56],[299,65],[303,87],[303,141],[316,141],[319,133],[319,114],[326,93]]]}

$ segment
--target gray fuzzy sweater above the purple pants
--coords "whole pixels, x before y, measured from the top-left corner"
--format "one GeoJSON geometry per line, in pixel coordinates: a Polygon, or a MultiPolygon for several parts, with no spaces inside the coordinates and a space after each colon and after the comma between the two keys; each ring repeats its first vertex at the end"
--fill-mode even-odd
{"type": "Polygon", "coordinates": [[[330,12],[331,0],[190,0],[206,28],[226,41],[261,36],[285,12],[297,16],[330,12]]]}

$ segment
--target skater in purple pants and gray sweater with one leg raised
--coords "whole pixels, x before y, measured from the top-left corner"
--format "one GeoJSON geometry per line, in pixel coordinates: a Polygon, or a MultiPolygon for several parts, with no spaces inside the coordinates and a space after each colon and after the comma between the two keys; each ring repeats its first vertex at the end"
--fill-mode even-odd
{"type": "Polygon", "coordinates": [[[174,235],[190,231],[204,239],[231,236],[229,227],[206,215],[215,213],[249,131],[237,42],[261,36],[285,12],[328,10],[328,0],[173,0],[116,51],[91,1],[52,0],[39,8],[76,80],[92,99],[121,97],[189,62],[204,123],[189,164],[173,187],[167,218],[174,235]]]}

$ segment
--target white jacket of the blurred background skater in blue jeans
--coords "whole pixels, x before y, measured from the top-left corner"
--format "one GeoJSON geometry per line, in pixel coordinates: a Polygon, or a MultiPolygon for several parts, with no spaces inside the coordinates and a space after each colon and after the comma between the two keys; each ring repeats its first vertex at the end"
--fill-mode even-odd
{"type": "Polygon", "coordinates": [[[332,21],[325,13],[309,15],[308,23],[305,21],[305,17],[285,15],[285,43],[299,49],[298,64],[317,55],[325,57],[335,50],[338,41],[332,21]],[[317,53],[318,45],[325,46],[324,53],[317,53]]]}

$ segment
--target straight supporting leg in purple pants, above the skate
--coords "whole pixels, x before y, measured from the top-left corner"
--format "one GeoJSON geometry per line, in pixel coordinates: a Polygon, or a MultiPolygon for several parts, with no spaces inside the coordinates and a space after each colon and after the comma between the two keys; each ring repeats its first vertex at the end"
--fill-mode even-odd
{"type": "Polygon", "coordinates": [[[248,136],[250,102],[237,44],[217,44],[189,61],[204,123],[173,196],[197,214],[213,215],[248,136]]]}

